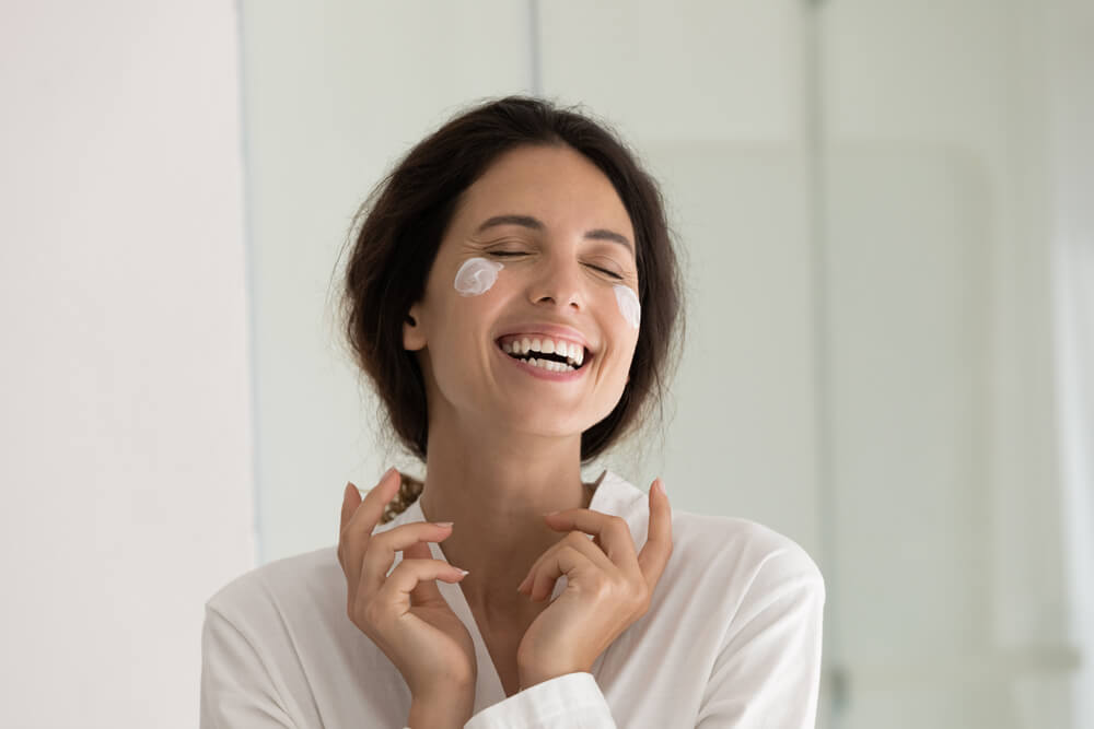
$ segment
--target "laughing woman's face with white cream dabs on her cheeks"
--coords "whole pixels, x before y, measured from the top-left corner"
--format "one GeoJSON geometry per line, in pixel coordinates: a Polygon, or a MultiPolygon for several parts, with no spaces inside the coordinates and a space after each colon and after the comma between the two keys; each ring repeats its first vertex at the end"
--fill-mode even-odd
{"type": "Polygon", "coordinates": [[[424,297],[410,308],[416,325],[404,325],[426,376],[430,424],[566,436],[610,413],[638,342],[626,314],[628,299],[637,304],[633,246],[612,183],[573,149],[521,146],[498,157],[462,196],[424,297]],[[517,334],[522,344],[540,340],[540,350],[545,339],[568,354],[583,345],[582,365],[554,373],[516,360],[503,348],[517,334]]]}

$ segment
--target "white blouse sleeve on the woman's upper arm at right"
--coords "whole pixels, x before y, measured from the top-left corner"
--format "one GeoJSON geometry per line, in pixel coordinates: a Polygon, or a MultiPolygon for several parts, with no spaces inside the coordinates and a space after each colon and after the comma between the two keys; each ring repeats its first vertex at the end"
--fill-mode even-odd
{"type": "Polygon", "coordinates": [[[758,568],[703,692],[696,729],[813,729],[824,577],[795,545],[758,568]]]}

